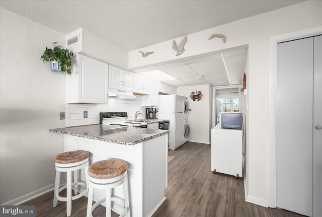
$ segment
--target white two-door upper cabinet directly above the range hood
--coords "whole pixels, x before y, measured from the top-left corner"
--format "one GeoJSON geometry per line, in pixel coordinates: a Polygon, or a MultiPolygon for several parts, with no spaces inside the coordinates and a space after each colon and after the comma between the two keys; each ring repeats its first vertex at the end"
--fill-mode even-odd
{"type": "Polygon", "coordinates": [[[133,92],[133,73],[110,65],[109,88],[133,92]]]}

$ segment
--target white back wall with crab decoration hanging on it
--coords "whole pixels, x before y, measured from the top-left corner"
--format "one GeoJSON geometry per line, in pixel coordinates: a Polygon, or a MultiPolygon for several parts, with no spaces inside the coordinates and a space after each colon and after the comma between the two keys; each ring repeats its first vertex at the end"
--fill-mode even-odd
{"type": "Polygon", "coordinates": [[[210,85],[197,85],[189,87],[178,87],[177,94],[188,97],[189,109],[188,124],[190,135],[188,141],[210,144],[210,85]],[[196,91],[197,90],[197,91],[196,91]],[[190,98],[191,92],[201,91],[203,97],[199,101],[190,98]]]}

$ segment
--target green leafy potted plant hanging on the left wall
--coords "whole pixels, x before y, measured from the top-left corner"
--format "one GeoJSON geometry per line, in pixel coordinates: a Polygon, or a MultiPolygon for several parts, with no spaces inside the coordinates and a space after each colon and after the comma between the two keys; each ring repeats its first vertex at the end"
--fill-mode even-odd
{"type": "Polygon", "coordinates": [[[71,73],[71,59],[74,57],[72,52],[68,49],[64,49],[61,46],[56,46],[57,42],[53,42],[54,49],[46,47],[44,54],[41,56],[43,61],[51,61],[51,70],[55,72],[67,72],[71,73]]]}

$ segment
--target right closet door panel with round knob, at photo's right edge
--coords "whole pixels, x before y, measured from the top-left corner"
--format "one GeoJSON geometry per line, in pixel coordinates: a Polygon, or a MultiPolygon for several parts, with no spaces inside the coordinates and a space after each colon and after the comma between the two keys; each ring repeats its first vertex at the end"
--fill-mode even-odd
{"type": "Polygon", "coordinates": [[[322,216],[322,36],[314,37],[313,216],[322,216]]]}

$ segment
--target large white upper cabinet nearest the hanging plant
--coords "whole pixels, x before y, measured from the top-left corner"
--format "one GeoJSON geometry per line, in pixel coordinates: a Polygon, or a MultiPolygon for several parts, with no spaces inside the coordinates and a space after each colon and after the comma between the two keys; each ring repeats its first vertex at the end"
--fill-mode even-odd
{"type": "Polygon", "coordinates": [[[76,54],[71,75],[66,75],[67,103],[108,103],[107,63],[76,54]]]}

